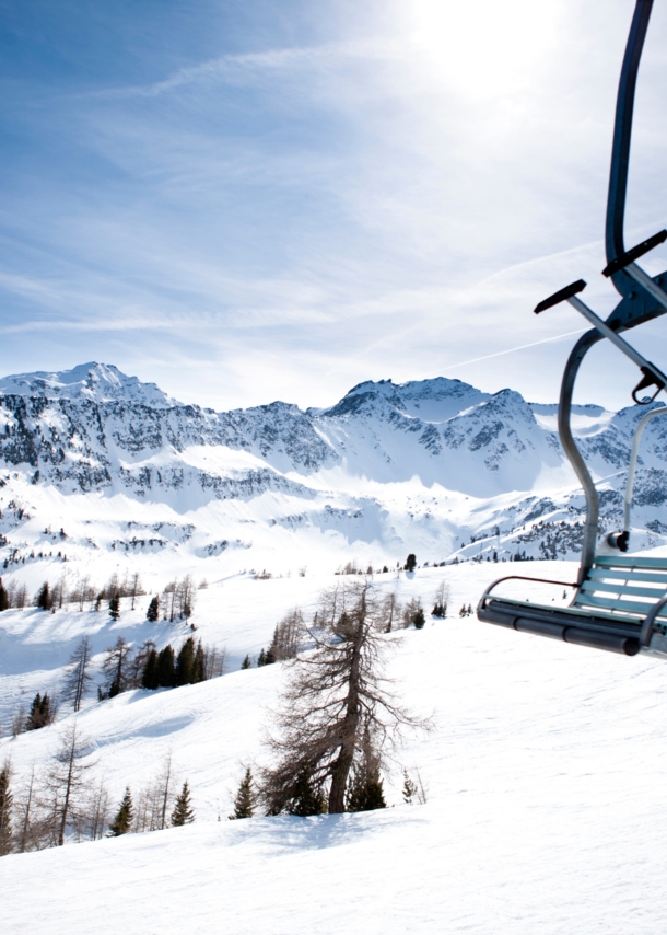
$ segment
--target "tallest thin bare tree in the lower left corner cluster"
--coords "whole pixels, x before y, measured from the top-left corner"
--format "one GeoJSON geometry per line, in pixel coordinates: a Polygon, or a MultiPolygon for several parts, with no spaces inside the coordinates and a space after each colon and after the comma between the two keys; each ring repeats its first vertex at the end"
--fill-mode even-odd
{"type": "Polygon", "coordinates": [[[74,722],[62,732],[46,776],[54,843],[58,846],[65,844],[68,827],[71,824],[75,828],[81,820],[89,792],[86,774],[95,765],[94,762],[84,762],[90,754],[90,741],[81,737],[74,722]]]}

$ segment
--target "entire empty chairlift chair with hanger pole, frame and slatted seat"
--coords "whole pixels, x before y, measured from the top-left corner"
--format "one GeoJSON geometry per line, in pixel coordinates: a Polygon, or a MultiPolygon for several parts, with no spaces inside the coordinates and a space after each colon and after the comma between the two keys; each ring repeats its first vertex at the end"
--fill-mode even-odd
{"type": "Polygon", "coordinates": [[[625,47],[616,108],[611,170],[607,200],[605,245],[607,266],[602,270],[621,296],[621,300],[605,320],[600,319],[580,293],[586,286],[583,279],[540,302],[537,314],[567,301],[593,325],[577,340],[565,365],[559,401],[559,436],[583,488],[586,499],[586,522],[582,556],[575,582],[551,581],[507,575],[484,591],[477,613],[481,621],[499,624],[519,632],[538,634],[583,646],[635,656],[637,653],[667,658],[667,558],[648,558],[628,553],[634,476],[639,448],[647,423],[667,413],[667,405],[646,412],[639,422],[633,439],[624,496],[623,529],[598,538],[599,499],[593,477],[576,447],[572,432],[572,396],[582,361],[598,340],[607,338],[640,369],[642,379],[632,391],[637,405],[654,402],[667,386],[667,376],[646,360],[621,332],[651,321],[667,311],[667,272],[651,277],[637,261],[667,240],[660,231],[631,250],[625,250],[623,220],[628,188],[628,164],[632,134],[632,112],[636,76],[648,27],[653,0],[636,0],[636,5],[625,47]],[[651,396],[641,396],[643,390],[654,388],[651,396]],[[574,588],[569,607],[517,601],[495,593],[502,581],[512,579],[541,581],[574,588]]]}

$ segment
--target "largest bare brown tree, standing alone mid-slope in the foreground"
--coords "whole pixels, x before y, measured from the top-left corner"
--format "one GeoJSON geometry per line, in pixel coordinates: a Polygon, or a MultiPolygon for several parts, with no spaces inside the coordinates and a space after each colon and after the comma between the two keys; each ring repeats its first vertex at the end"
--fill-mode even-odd
{"type": "Polygon", "coordinates": [[[329,812],[346,809],[352,767],[368,744],[379,766],[401,727],[423,725],[396,700],[384,677],[389,646],[386,604],[368,580],[325,591],[318,610],[319,632],[311,631],[315,650],[300,654],[276,715],[277,736],[269,746],[277,765],[262,774],[269,813],[289,810],[307,777],[329,812]]]}

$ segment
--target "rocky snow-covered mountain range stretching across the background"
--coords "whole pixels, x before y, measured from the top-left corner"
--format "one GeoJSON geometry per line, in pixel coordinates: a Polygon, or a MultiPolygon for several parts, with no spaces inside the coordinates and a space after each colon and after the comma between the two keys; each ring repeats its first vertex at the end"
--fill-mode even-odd
{"type": "MultiPolygon", "coordinates": [[[[618,526],[636,406],[576,408],[578,443],[618,526]]],[[[31,587],[109,566],[331,569],[454,557],[573,557],[583,497],[557,406],[437,378],[354,386],[330,408],[217,413],[116,367],[0,381],[0,563],[31,587]],[[66,562],[67,559],[67,562],[66,562]],[[214,559],[214,561],[211,561],[214,559]],[[66,567],[67,565],[67,567],[66,567]]],[[[667,423],[650,424],[633,547],[667,542],[667,423]]]]}

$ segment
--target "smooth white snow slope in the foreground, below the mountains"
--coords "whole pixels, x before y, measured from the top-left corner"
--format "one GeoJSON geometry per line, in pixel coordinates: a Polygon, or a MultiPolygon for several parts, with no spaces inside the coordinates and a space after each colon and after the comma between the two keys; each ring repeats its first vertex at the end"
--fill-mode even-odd
{"type": "MultiPolygon", "coordinates": [[[[516,567],[504,566],[507,572],[516,567]]],[[[569,581],[572,563],[520,572],[569,581]]],[[[445,578],[449,616],[388,635],[389,673],[405,703],[433,713],[385,776],[389,808],[364,815],[227,821],[245,764],[267,761],[262,737],[285,678],[281,665],[238,671],[291,607],[311,613],[319,590],[344,580],[236,576],[198,592],[196,636],[226,645],[230,672],[198,685],[89,702],[79,726],[94,772],[118,801],[172,751],[188,778],[195,824],[0,861],[0,932],[483,933],[656,935],[667,926],[659,873],[667,827],[657,792],[664,757],[665,668],[460,619],[499,566],[379,575],[374,586],[426,607],[445,578]],[[428,804],[401,801],[405,765],[428,804]],[[221,821],[218,821],[220,816],[221,821]]],[[[562,601],[562,589],[515,585],[562,601]]],[[[144,599],[144,603],[148,598],[144,599]]],[[[183,624],[149,624],[122,601],[104,613],[8,611],[0,616],[3,718],[21,697],[51,690],[83,632],[95,651],[117,634],[178,643],[183,624]]],[[[73,715],[0,741],[16,784],[37,771],[73,715]]]]}

